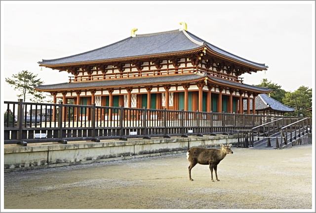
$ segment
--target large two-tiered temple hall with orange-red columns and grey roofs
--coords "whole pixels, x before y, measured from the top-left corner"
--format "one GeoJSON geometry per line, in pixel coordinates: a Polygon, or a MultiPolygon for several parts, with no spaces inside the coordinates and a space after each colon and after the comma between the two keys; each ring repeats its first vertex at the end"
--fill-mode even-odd
{"type": "MultiPolygon", "coordinates": [[[[256,113],[251,100],[268,88],[243,82],[243,73],[267,70],[187,31],[131,36],[116,43],[40,66],[71,74],[69,81],[40,85],[63,103],[153,109],[256,113]]],[[[254,50],[255,51],[255,50],[254,50]]]]}

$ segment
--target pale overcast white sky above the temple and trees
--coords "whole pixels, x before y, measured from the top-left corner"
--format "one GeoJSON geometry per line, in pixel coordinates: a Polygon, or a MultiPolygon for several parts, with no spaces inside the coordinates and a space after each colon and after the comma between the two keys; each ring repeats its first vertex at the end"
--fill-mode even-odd
{"type": "MultiPolygon", "coordinates": [[[[269,66],[268,71],[244,74],[244,83],[268,78],[286,91],[312,87],[311,4],[83,3],[2,1],[4,77],[28,70],[44,84],[67,82],[67,72],[41,70],[37,62],[111,44],[129,37],[132,28],[138,28],[137,34],[155,33],[178,29],[184,21],[196,36],[269,66]]],[[[16,94],[4,84],[4,100],[16,101],[16,94]]]]}

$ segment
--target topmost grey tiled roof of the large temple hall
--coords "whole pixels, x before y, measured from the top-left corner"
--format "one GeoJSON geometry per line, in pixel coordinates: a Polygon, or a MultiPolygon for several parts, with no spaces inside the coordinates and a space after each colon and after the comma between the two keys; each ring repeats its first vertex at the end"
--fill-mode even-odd
{"type": "Polygon", "coordinates": [[[112,60],[128,57],[149,56],[166,53],[177,53],[189,50],[197,50],[206,47],[209,51],[215,52],[223,57],[228,57],[249,66],[254,66],[259,70],[266,70],[265,64],[255,63],[237,55],[222,50],[209,42],[191,34],[187,31],[167,31],[154,34],[136,35],[127,37],[116,43],[91,50],[88,52],[72,55],[64,58],[42,60],[41,65],[67,65],[82,62],[98,62],[102,60],[112,60]]]}

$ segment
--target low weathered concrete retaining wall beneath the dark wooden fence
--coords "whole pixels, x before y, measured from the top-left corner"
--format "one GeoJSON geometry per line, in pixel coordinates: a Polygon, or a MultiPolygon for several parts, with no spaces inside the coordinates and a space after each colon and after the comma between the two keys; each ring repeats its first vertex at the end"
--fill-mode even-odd
{"type": "Polygon", "coordinates": [[[38,169],[73,164],[128,159],[179,153],[189,147],[211,147],[221,143],[236,143],[236,136],[204,136],[189,138],[72,142],[71,144],[41,144],[4,147],[4,171],[38,169]]]}

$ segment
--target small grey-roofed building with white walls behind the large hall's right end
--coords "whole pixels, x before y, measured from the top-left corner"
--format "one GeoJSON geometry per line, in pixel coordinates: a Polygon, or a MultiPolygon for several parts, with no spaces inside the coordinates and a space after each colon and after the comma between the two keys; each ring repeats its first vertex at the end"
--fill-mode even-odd
{"type": "MultiPolygon", "coordinates": [[[[252,100],[250,100],[252,105],[252,100]]],[[[263,115],[283,115],[285,112],[293,112],[294,108],[283,105],[282,103],[271,98],[267,94],[259,94],[255,99],[256,114],[263,115]]],[[[247,112],[247,102],[243,102],[243,110],[247,112]]],[[[252,112],[252,109],[250,109],[252,112]]]]}

